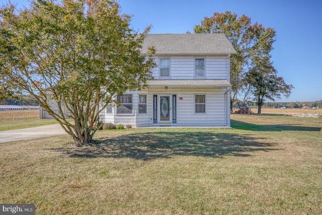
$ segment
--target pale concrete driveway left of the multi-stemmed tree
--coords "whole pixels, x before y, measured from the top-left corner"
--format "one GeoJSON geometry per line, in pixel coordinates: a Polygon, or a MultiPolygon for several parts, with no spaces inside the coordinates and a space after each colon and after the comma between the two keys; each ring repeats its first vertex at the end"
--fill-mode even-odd
{"type": "Polygon", "coordinates": [[[33,128],[0,131],[0,142],[35,139],[58,135],[67,135],[59,124],[44,125],[33,128]]]}

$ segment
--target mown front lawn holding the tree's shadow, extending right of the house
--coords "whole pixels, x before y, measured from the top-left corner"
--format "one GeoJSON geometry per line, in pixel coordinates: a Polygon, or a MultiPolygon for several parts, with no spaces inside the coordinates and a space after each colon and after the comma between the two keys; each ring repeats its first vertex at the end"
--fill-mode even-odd
{"type": "Polygon", "coordinates": [[[99,131],[0,144],[0,202],[36,214],[321,214],[322,118],[99,131]]]}

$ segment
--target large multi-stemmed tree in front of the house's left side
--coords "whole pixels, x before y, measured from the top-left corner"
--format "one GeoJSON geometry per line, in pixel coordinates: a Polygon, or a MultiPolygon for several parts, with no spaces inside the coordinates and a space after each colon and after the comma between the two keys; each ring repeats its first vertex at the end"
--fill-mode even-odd
{"type": "Polygon", "coordinates": [[[152,78],[155,63],[140,52],[149,28],[134,32],[130,20],[109,0],[32,0],[19,12],[3,6],[1,73],[33,95],[76,143],[89,144],[113,96],[141,89],[152,78]]]}

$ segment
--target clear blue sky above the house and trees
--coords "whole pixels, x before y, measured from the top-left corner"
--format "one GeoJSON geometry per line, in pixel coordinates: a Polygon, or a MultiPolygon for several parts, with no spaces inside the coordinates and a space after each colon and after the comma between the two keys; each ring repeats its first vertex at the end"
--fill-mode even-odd
{"type": "MultiPolygon", "coordinates": [[[[0,0],[0,3],[7,3],[0,0]]],[[[28,0],[12,0],[18,6],[28,0]]],[[[294,89],[280,101],[322,99],[322,1],[306,0],[119,0],[122,12],[133,15],[132,27],[150,33],[193,33],[193,27],[214,12],[231,11],[251,17],[252,23],[276,30],[272,61],[278,76],[294,89]]]]}

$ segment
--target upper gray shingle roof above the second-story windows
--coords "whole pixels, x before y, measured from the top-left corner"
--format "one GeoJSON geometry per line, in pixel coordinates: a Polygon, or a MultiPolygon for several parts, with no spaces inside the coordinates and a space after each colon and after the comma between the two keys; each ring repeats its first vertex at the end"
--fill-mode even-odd
{"type": "Polygon", "coordinates": [[[148,34],[142,52],[154,46],[155,54],[235,54],[224,34],[148,34]]]}

